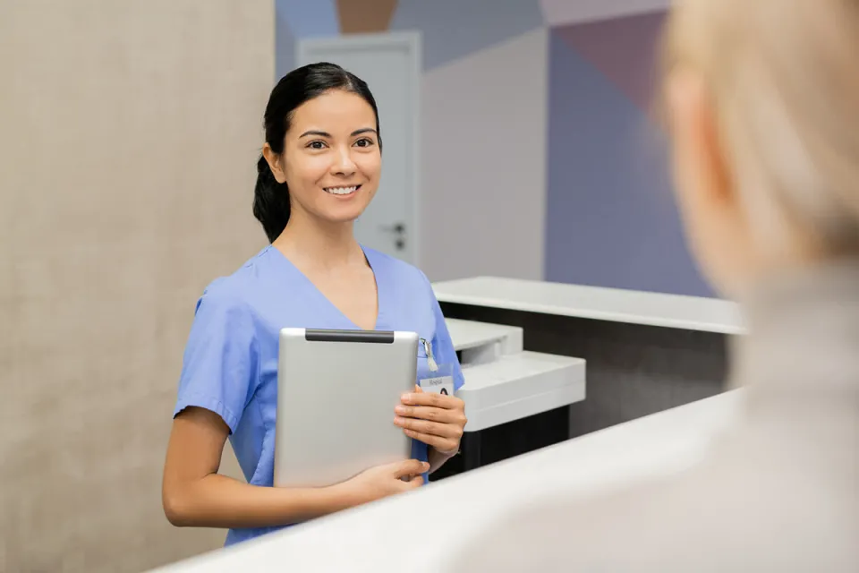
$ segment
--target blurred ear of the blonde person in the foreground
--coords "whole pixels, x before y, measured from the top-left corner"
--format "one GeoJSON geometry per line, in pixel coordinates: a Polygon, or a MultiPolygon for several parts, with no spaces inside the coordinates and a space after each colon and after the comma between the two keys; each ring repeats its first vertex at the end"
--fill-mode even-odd
{"type": "Polygon", "coordinates": [[[694,193],[696,202],[733,204],[734,186],[720,138],[718,110],[701,74],[677,70],[668,78],[667,90],[679,191],[694,193]]]}

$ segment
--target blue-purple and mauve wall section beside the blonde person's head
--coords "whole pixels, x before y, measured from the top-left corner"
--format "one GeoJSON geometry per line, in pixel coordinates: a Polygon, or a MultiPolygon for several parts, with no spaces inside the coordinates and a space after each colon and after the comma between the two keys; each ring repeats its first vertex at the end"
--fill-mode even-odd
{"type": "Polygon", "coordinates": [[[661,20],[551,32],[547,280],[713,295],[685,247],[649,113],[661,20]]]}

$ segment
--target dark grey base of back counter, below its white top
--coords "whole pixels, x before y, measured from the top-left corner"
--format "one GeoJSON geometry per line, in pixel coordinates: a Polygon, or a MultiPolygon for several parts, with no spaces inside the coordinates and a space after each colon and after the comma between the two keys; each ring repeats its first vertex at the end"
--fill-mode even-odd
{"type": "Polygon", "coordinates": [[[724,334],[464,304],[442,304],[442,310],[447,318],[522,327],[525,350],[584,358],[587,398],[474,432],[464,440],[462,454],[437,472],[438,478],[710,398],[725,389],[724,334]],[[566,427],[560,421],[565,416],[566,427]]]}

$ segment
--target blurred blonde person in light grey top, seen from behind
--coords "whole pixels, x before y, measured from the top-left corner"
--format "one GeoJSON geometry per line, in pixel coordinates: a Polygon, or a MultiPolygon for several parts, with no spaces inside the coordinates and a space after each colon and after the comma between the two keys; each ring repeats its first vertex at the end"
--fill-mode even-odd
{"type": "Polygon", "coordinates": [[[741,304],[736,423],[697,466],[532,503],[462,571],[859,571],[859,0],[683,0],[663,100],[677,201],[741,304]]]}

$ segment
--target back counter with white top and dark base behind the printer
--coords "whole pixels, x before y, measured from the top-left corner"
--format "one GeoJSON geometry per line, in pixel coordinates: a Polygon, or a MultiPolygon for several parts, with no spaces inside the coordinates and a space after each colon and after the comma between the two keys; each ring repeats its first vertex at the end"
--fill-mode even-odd
{"type": "MultiPolygon", "coordinates": [[[[517,327],[524,350],[586,363],[568,437],[719,394],[727,338],[745,331],[737,305],[719,299],[492,277],[434,289],[448,319],[517,327]]],[[[504,442],[520,432],[493,434],[504,442]]]]}

